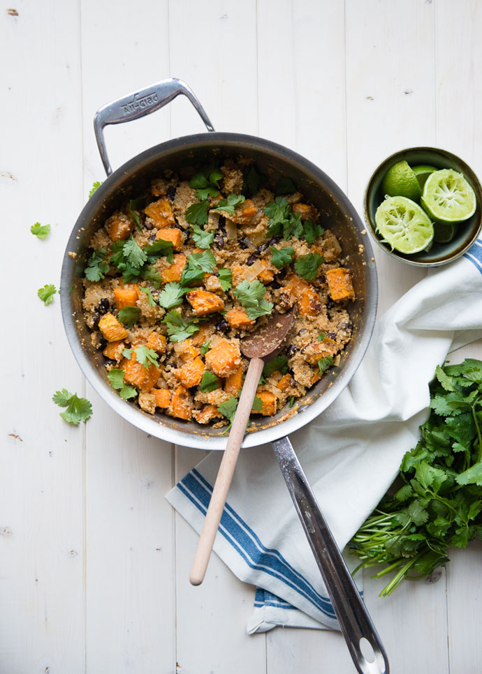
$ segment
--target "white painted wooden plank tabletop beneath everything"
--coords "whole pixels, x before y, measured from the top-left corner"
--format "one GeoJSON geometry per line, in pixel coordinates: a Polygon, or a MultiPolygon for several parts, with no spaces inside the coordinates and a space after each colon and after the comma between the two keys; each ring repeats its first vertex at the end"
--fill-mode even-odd
{"type": "MultiPolygon", "coordinates": [[[[379,160],[416,144],[482,174],[482,3],[476,0],[9,0],[0,10],[3,403],[1,674],[288,674],[354,671],[342,636],[247,636],[254,588],[217,557],[201,587],[197,536],[164,500],[203,452],[146,437],[86,384],[61,324],[61,258],[94,180],[92,119],[164,77],[186,80],[217,130],[314,161],[361,210],[379,160]],[[38,241],[36,221],[52,232],[38,241]],[[14,327],[15,326],[15,327],[14,327]],[[51,402],[92,400],[79,428],[51,402]]],[[[202,130],[187,100],[106,136],[115,167],[202,130]]],[[[379,310],[423,276],[376,250],[379,310]]],[[[454,288],[456,292],[456,288],[454,288]]],[[[460,357],[482,357],[480,344],[460,357]]],[[[365,601],[394,674],[482,670],[481,546],[437,583],[365,601]]]]}

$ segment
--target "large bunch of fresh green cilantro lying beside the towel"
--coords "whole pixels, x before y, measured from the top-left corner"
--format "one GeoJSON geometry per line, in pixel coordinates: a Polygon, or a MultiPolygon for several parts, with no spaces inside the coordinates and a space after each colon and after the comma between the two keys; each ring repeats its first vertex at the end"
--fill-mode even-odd
{"type": "Polygon", "coordinates": [[[404,483],[386,495],[351,540],[360,567],[388,564],[381,595],[403,578],[421,578],[448,562],[451,546],[482,538],[482,361],[437,367],[430,417],[400,466],[404,483]]]}

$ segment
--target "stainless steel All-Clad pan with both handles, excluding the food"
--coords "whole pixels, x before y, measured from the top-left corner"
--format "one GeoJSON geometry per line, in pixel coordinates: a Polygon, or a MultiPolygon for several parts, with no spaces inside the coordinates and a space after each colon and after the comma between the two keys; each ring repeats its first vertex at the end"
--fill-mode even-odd
{"type": "Polygon", "coordinates": [[[103,106],[96,114],[94,126],[108,177],[85,205],[67,244],[60,292],[64,326],[75,359],[97,393],[121,417],[154,437],[200,449],[224,449],[226,444],[226,436],[222,435],[222,430],[200,428],[194,422],[186,423],[162,414],[152,417],[136,405],[126,403],[110,387],[103,368],[103,357],[91,345],[89,329],[82,320],[81,308],[82,275],[87,262],[89,241],[94,232],[103,225],[105,218],[126,198],[138,195],[153,177],[165,169],[180,171],[187,165],[204,164],[213,158],[235,158],[242,155],[252,158],[261,174],[274,179],[282,176],[291,178],[300,192],[319,209],[323,225],[333,230],[342,244],[344,256],[349,258],[348,265],[357,297],[349,308],[353,338],[342,361],[336,372],[322,377],[314,389],[298,401],[293,410],[281,410],[268,421],[254,421],[244,438],[243,447],[275,441],[277,457],[326,580],[358,671],[388,672],[386,656],[370,617],[333,539],[326,538],[328,527],[309,490],[298,460],[290,449],[291,444],[284,437],[305,426],[337,398],[358,368],[370,340],[377,308],[377,273],[370,241],[356,210],[342,190],[323,171],[298,153],[258,137],[214,132],[203,107],[187,84],[180,80],[163,80],[103,106]],[[208,133],[183,136],[158,144],[111,172],[103,140],[103,127],[143,117],[163,107],[179,94],[191,100],[208,133]],[[324,539],[320,538],[323,536],[324,539]],[[339,599],[338,595],[343,597],[339,599]],[[363,657],[360,650],[361,638],[367,638],[372,644],[376,655],[372,664],[363,657]],[[385,668],[374,668],[378,667],[378,661],[384,662],[385,668]]]}

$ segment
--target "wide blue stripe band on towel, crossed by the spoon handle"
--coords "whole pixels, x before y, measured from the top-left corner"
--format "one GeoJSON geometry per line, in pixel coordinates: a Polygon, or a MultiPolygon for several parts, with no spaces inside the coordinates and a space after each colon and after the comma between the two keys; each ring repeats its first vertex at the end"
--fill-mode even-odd
{"type": "MultiPolygon", "coordinates": [[[[198,510],[205,514],[210,502],[212,486],[197,470],[189,472],[177,484],[177,488],[198,510]]],[[[254,531],[228,504],[224,508],[219,531],[251,569],[277,578],[307,599],[321,613],[328,617],[335,617],[330,599],[316,592],[311,583],[295,571],[279,551],[266,548],[254,531]]]]}

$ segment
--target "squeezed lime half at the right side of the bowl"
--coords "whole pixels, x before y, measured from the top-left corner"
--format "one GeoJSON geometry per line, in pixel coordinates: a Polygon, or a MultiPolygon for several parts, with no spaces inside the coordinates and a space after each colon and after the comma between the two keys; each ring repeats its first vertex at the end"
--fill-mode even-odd
{"type": "Polygon", "coordinates": [[[425,211],[439,223],[460,223],[474,215],[476,197],[474,190],[461,173],[442,169],[430,174],[421,204],[425,211]]]}

